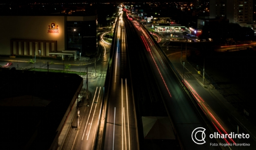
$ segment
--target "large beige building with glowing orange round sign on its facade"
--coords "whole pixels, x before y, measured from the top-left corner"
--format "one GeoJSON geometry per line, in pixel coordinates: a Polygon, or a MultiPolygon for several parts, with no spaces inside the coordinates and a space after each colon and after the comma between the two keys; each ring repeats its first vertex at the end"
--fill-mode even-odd
{"type": "Polygon", "coordinates": [[[0,16],[0,54],[39,56],[41,50],[41,56],[76,59],[96,52],[96,26],[97,14],[0,16]]]}

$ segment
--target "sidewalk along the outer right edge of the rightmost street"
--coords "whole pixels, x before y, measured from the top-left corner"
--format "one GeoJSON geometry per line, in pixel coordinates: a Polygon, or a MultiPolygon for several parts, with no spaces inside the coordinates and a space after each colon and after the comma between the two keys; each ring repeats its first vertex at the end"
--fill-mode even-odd
{"type": "MultiPolygon", "coordinates": [[[[172,54],[169,54],[169,56],[172,54]]],[[[183,60],[185,60],[185,56],[183,56],[183,60]]],[[[173,63],[173,66],[175,69],[179,72],[180,77],[183,77],[183,64],[182,63],[173,63]]],[[[197,82],[206,89],[206,91],[209,92],[209,94],[216,100],[217,103],[220,104],[223,110],[228,112],[234,120],[241,126],[243,127],[244,130],[246,130],[249,134],[250,137],[256,141],[256,127],[249,122],[244,116],[240,115],[239,112],[237,112],[237,109],[234,108],[233,105],[231,105],[220,92],[213,87],[210,82],[207,80],[204,81],[203,84],[203,77],[202,73],[199,77],[198,71],[189,63],[185,62],[185,68],[191,73],[191,75],[196,78],[197,82]]]]}

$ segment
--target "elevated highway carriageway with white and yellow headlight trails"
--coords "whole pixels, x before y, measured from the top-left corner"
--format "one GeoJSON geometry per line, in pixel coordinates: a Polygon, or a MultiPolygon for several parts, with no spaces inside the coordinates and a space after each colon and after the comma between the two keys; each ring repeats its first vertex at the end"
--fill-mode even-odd
{"type": "Polygon", "coordinates": [[[137,150],[135,112],[122,15],[117,21],[114,40],[104,150],[137,150]]]}

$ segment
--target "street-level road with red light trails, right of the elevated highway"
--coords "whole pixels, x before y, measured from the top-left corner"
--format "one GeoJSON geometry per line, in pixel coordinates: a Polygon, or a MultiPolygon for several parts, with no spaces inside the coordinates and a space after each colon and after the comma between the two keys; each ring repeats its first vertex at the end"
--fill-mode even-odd
{"type": "MultiPolygon", "coordinates": [[[[159,38],[157,36],[156,36],[156,39],[160,44],[161,42],[159,41],[159,38]]],[[[162,46],[162,49],[164,48],[166,47],[162,46]]],[[[188,51],[190,50],[190,48],[188,48],[188,51]]],[[[171,63],[175,66],[175,69],[178,70],[180,77],[183,77],[183,66],[182,66],[183,63],[181,63],[181,60],[180,60],[181,59],[180,50],[169,49],[169,51],[173,51],[173,54],[169,54],[168,59],[171,60],[171,63]]],[[[182,61],[185,61],[184,51],[183,51],[182,61]]],[[[234,117],[230,115],[230,112],[228,112],[228,110],[219,101],[215,100],[212,94],[206,91],[206,89],[197,82],[197,78],[190,72],[191,70],[194,70],[194,68],[189,68],[190,65],[188,65],[186,61],[184,64],[185,64],[185,72],[184,72],[185,83],[187,84],[188,88],[190,88],[193,91],[194,97],[196,97],[197,99],[197,103],[200,104],[203,112],[207,114],[213,128],[215,128],[215,131],[217,131],[219,134],[221,133],[229,134],[231,132],[237,134],[239,129],[239,134],[242,134],[242,133],[250,134],[249,132],[246,131],[246,129],[243,129],[240,125],[238,125],[238,123],[234,120],[234,117]]],[[[231,144],[249,143],[251,145],[251,146],[244,146],[240,148],[239,146],[230,146],[229,149],[232,149],[232,150],[238,150],[241,148],[243,150],[252,150],[255,147],[254,145],[256,145],[256,142],[253,138],[245,138],[245,139],[241,138],[239,140],[237,140],[237,138],[225,138],[224,140],[225,141],[223,141],[223,143],[231,143],[231,144]]]]}

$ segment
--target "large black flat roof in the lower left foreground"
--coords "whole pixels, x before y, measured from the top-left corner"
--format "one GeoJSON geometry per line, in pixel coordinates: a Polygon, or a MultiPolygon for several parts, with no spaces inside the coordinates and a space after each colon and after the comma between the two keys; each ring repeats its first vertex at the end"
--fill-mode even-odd
{"type": "Polygon", "coordinates": [[[50,148],[83,78],[71,73],[1,68],[0,78],[1,148],[50,148]]]}

